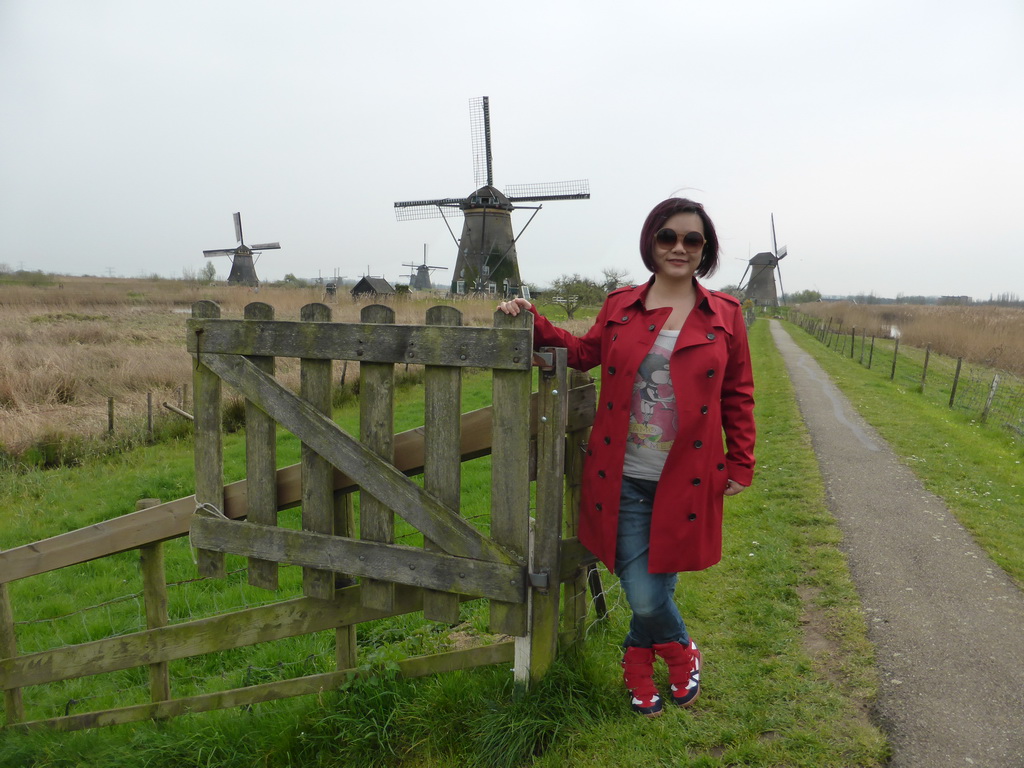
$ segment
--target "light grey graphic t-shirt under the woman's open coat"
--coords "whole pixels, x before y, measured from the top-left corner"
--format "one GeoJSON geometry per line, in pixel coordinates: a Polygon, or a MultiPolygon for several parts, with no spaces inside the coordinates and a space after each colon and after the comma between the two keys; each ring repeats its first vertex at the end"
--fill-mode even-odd
{"type": "Polygon", "coordinates": [[[675,442],[679,420],[669,359],[678,338],[679,331],[662,331],[637,371],[623,466],[628,477],[658,479],[675,442]]]}

